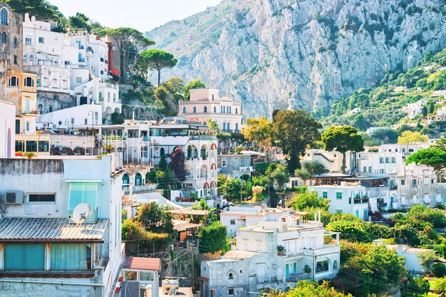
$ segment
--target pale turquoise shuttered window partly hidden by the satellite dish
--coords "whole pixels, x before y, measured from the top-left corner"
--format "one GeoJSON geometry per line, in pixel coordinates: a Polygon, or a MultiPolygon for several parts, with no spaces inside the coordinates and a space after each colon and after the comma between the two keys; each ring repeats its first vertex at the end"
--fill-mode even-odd
{"type": "Polygon", "coordinates": [[[94,222],[96,219],[96,193],[98,184],[96,182],[70,182],[70,196],[68,202],[68,214],[73,214],[73,210],[81,203],[90,205],[90,217],[87,222],[94,222]]]}

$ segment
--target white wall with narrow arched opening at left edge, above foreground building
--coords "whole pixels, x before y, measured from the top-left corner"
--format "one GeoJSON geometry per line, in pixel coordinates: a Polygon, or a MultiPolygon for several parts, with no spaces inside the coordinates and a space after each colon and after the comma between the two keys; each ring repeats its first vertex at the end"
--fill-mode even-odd
{"type": "Polygon", "coordinates": [[[16,105],[0,100],[0,158],[14,156],[16,105]]]}

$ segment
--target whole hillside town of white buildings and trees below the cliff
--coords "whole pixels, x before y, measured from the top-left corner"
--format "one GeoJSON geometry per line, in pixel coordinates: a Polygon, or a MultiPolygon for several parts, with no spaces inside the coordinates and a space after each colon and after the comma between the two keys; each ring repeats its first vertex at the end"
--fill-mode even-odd
{"type": "Polygon", "coordinates": [[[390,127],[251,117],[135,29],[8,3],[0,296],[444,296],[446,83],[390,127]]]}

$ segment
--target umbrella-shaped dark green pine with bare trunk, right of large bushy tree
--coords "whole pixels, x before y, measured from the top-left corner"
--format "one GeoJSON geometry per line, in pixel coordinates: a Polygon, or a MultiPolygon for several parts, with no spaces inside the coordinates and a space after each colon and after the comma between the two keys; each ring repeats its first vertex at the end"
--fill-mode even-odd
{"type": "Polygon", "coordinates": [[[321,140],[323,149],[331,152],[336,150],[342,154],[342,172],[346,173],[346,152],[362,152],[364,140],[358,130],[351,126],[332,126],[323,132],[321,140]]]}

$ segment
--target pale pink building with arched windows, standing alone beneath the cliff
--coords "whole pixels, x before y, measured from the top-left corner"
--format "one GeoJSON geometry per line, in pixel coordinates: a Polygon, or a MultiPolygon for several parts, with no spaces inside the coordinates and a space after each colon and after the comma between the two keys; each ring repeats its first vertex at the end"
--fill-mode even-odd
{"type": "Polygon", "coordinates": [[[192,89],[190,100],[180,100],[178,116],[190,122],[206,125],[207,119],[217,121],[219,130],[232,132],[242,129],[242,103],[229,97],[219,97],[216,89],[192,89]]]}

